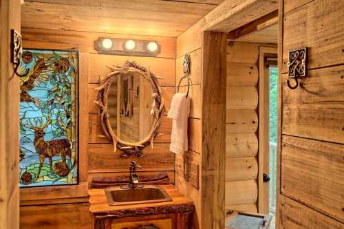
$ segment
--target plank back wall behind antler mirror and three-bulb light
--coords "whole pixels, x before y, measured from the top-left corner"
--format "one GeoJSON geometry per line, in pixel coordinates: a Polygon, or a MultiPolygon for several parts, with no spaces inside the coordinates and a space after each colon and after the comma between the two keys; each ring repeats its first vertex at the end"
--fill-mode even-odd
{"type": "MultiPolygon", "coordinates": [[[[88,92],[88,109],[80,111],[79,117],[88,120],[89,133],[80,133],[86,137],[88,149],[81,151],[80,154],[88,153],[88,162],[85,163],[88,164],[89,184],[93,177],[127,175],[129,164],[133,159],[143,166],[138,171],[138,175],[166,172],[171,178],[171,182],[174,182],[175,157],[169,152],[171,120],[164,116],[160,131],[165,134],[155,140],[153,149],[150,147],[144,149],[144,157],[122,160],[120,159],[120,151],[114,154],[110,142],[99,137],[102,132],[98,122],[98,108],[93,101],[96,98],[94,88],[99,85],[99,75],[103,76],[109,72],[106,65],[122,65],[125,61],[136,61],[140,65],[150,67],[151,72],[164,78],[160,81],[160,85],[162,85],[162,91],[166,98],[167,111],[175,93],[175,38],[34,28],[22,28],[22,34],[24,47],[76,48],[80,53],[87,54],[85,62],[87,62],[88,67],[85,72],[88,76],[83,80],[87,80],[88,83],[88,88],[85,89],[88,92]],[[158,41],[161,45],[161,53],[157,57],[98,54],[93,49],[93,42],[98,36],[158,41]]],[[[85,66],[85,63],[80,63],[81,65],[85,66]]],[[[80,71],[83,70],[85,69],[80,69],[80,71]]],[[[25,206],[21,206],[21,228],[93,228],[89,218],[87,198],[30,201],[25,206]],[[40,206],[36,206],[36,204],[40,204],[40,206]]]]}

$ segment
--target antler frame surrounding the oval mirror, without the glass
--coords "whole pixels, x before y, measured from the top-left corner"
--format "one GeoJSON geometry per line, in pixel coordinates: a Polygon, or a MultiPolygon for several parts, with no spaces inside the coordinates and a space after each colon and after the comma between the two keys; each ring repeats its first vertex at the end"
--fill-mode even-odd
{"type": "MultiPolygon", "coordinates": [[[[109,66],[107,66],[109,67],[109,66]]],[[[147,145],[151,144],[153,148],[154,138],[164,133],[158,133],[160,123],[162,122],[162,116],[164,115],[164,98],[162,97],[162,89],[158,84],[158,77],[154,76],[150,72],[149,68],[142,67],[138,65],[135,61],[130,62],[126,61],[124,65],[109,67],[111,72],[105,76],[103,80],[100,80],[100,86],[95,90],[98,91],[97,105],[99,105],[99,120],[100,126],[105,133],[105,137],[108,138],[114,144],[114,152],[116,149],[120,149],[123,153],[120,155],[122,158],[127,158],[129,155],[136,155],[137,157],[142,157],[142,149],[147,145]],[[118,138],[114,130],[111,128],[110,124],[110,115],[108,110],[109,104],[109,89],[111,84],[115,82],[116,78],[121,74],[139,74],[144,77],[153,89],[152,100],[153,104],[151,105],[151,116],[153,118],[151,130],[147,136],[139,140],[139,142],[127,142],[118,138]]]]}

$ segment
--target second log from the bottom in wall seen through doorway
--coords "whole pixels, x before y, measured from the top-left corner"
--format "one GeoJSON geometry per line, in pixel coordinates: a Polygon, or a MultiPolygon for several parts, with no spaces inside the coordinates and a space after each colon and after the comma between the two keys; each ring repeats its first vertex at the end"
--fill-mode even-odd
{"type": "Polygon", "coordinates": [[[255,157],[227,157],[226,182],[255,180],[258,163],[255,157]]]}

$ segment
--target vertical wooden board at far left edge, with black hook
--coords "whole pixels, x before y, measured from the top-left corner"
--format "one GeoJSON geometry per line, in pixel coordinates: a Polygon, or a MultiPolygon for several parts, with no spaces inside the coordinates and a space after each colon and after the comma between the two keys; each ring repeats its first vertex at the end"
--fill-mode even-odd
{"type": "Polygon", "coordinates": [[[0,228],[19,228],[19,77],[10,61],[11,30],[20,31],[20,1],[0,1],[0,228]]]}

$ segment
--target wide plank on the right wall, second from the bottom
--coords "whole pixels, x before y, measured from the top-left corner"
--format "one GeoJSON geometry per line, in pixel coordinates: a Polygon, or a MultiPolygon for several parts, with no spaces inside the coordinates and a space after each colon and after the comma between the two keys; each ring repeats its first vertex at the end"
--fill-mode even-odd
{"type": "Polygon", "coordinates": [[[281,192],[344,222],[344,145],[283,135],[281,192]]]}

